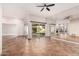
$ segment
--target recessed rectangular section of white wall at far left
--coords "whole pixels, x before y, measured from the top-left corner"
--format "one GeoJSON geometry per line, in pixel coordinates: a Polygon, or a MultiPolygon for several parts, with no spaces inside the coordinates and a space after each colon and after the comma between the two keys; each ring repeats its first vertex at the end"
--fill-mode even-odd
{"type": "Polygon", "coordinates": [[[2,24],[3,35],[17,35],[17,25],[16,24],[2,24]]]}

